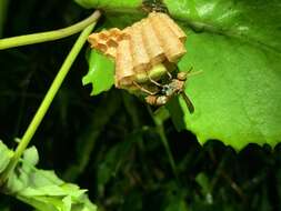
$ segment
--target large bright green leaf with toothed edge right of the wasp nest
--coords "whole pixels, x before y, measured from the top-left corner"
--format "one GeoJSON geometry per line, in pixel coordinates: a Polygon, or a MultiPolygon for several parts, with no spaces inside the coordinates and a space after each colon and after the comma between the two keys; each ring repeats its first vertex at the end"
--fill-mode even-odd
{"type": "Polygon", "coordinates": [[[192,4],[195,16],[188,1],[165,2],[178,17],[205,26],[201,33],[187,31],[188,53],[179,63],[181,70],[203,71],[188,81],[195,112],[190,114],[181,101],[184,128],[201,143],[275,145],[281,137],[280,3],[199,1],[192,4]]]}

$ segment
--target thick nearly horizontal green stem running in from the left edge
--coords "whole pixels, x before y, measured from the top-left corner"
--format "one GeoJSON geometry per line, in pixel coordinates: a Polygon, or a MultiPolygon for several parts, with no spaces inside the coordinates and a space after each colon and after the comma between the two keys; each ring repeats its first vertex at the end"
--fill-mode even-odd
{"type": "Polygon", "coordinates": [[[100,16],[100,11],[96,10],[87,19],[63,29],[0,39],[0,50],[27,44],[34,44],[39,42],[47,42],[72,36],[74,33],[78,33],[79,31],[82,31],[87,26],[91,24],[92,22],[96,22],[100,16]]]}

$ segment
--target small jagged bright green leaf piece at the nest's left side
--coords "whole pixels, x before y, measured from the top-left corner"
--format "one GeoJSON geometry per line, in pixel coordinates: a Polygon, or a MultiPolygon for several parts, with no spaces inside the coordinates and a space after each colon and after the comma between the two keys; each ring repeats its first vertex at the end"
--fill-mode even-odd
{"type": "Polygon", "coordinates": [[[114,62],[96,50],[91,50],[89,58],[89,71],[83,77],[84,84],[92,84],[91,96],[108,91],[114,84],[114,62]]]}

